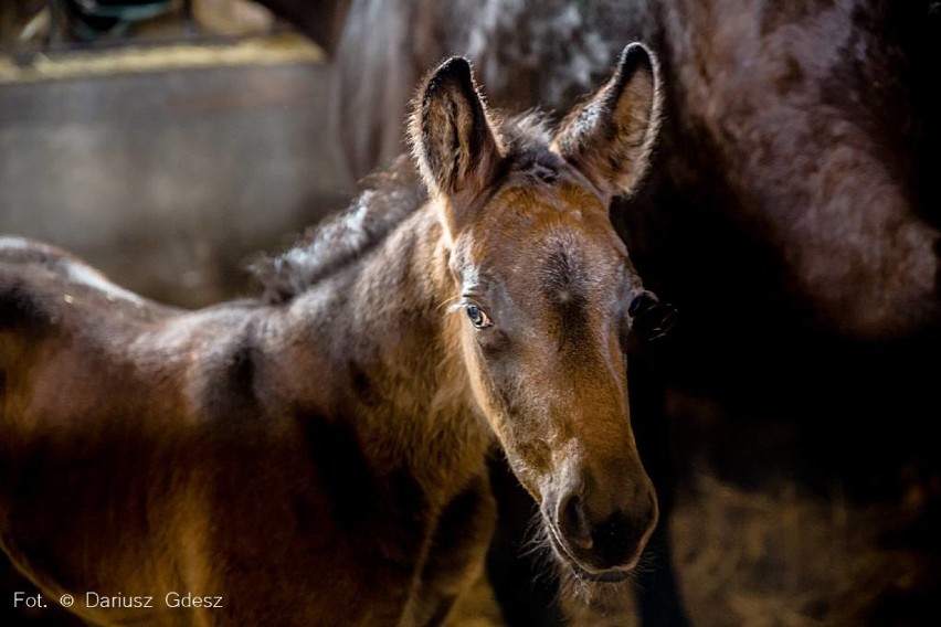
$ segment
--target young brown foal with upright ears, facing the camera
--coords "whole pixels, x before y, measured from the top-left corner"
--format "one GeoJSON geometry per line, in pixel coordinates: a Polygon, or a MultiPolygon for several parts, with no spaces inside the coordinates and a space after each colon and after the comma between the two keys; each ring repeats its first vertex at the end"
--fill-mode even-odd
{"type": "Polygon", "coordinates": [[[178,311],[0,240],[2,549],[98,625],[438,625],[482,572],[498,444],[563,567],[623,578],[657,521],[625,385],[649,297],[607,208],[658,107],[638,44],[554,132],[495,124],[451,59],[420,178],[273,259],[266,300],[178,311]]]}

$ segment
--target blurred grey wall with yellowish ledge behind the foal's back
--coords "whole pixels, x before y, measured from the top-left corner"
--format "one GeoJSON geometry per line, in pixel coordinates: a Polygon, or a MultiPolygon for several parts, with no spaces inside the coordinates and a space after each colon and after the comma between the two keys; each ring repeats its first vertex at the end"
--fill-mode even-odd
{"type": "Polygon", "coordinates": [[[323,47],[249,1],[91,4],[119,17],[0,9],[2,231],[199,306],[244,286],[249,253],[342,206],[323,47]]]}

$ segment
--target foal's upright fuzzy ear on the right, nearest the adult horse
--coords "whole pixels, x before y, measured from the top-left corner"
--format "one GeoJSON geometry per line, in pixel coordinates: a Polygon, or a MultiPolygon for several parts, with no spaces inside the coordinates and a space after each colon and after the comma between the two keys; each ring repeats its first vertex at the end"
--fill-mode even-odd
{"type": "Polygon", "coordinates": [[[632,193],[659,130],[660,99],[656,57],[632,43],[607,83],[562,120],[552,148],[603,193],[632,193]]]}

